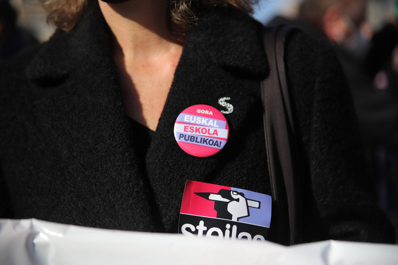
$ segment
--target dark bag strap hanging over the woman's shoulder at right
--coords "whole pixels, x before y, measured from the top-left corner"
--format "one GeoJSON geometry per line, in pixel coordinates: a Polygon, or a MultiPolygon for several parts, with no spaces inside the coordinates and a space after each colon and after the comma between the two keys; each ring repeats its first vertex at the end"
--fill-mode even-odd
{"type": "Polygon", "coordinates": [[[273,197],[271,237],[281,244],[300,242],[302,205],[295,127],[284,63],[288,25],[264,29],[270,74],[261,82],[264,133],[273,197]]]}

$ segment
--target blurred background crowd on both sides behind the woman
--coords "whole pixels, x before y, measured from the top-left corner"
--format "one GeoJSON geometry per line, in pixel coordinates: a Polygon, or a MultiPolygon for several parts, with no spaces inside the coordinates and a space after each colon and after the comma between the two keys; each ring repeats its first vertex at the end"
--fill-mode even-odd
{"type": "MultiPolygon", "coordinates": [[[[364,166],[398,231],[398,0],[260,0],[254,9],[263,24],[293,24],[334,46],[353,95],[364,166]]],[[[0,0],[0,62],[54,30],[38,0],[0,0]]]]}

